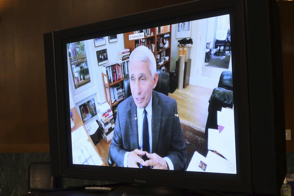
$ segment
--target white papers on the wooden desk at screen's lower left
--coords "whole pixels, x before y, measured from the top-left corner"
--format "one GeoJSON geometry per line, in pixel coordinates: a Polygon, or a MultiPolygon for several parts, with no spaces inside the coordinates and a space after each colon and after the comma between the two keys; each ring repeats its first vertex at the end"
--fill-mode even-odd
{"type": "Polygon", "coordinates": [[[73,164],[102,165],[100,156],[88,139],[84,126],[71,132],[73,164]]]}

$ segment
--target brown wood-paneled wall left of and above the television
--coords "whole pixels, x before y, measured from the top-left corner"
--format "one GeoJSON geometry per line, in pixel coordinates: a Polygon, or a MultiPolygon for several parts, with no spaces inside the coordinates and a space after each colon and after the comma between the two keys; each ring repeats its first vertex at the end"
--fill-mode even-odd
{"type": "Polygon", "coordinates": [[[0,152],[49,152],[43,33],[182,2],[0,0],[0,152]]]}

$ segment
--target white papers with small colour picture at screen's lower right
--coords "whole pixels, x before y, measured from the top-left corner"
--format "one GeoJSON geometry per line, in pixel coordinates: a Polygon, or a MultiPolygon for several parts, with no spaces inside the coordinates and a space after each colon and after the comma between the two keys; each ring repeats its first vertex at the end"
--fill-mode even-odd
{"type": "Polygon", "coordinates": [[[195,151],[187,171],[236,174],[236,168],[226,159],[208,151],[204,157],[195,151]]]}

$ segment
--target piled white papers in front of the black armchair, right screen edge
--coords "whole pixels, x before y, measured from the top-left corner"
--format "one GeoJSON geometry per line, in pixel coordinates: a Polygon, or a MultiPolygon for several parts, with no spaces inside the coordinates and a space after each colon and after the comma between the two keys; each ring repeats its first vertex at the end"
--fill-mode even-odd
{"type": "Polygon", "coordinates": [[[234,110],[222,108],[217,111],[217,124],[222,131],[208,129],[208,149],[224,156],[236,168],[234,110]]]}

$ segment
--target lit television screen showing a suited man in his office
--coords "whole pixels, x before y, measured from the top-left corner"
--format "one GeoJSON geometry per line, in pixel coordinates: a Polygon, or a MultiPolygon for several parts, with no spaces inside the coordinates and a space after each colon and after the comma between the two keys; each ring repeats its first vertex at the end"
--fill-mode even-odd
{"type": "Polygon", "coordinates": [[[112,159],[125,168],[236,175],[232,47],[229,14],[66,43],[69,161],[102,170],[112,159]],[[167,95],[141,82],[153,81],[149,71],[136,77],[139,62],[169,75],[167,95]],[[135,93],[129,99],[126,75],[135,93]],[[141,89],[135,87],[139,83],[141,89]],[[141,108],[150,118],[148,140],[141,108]]]}

